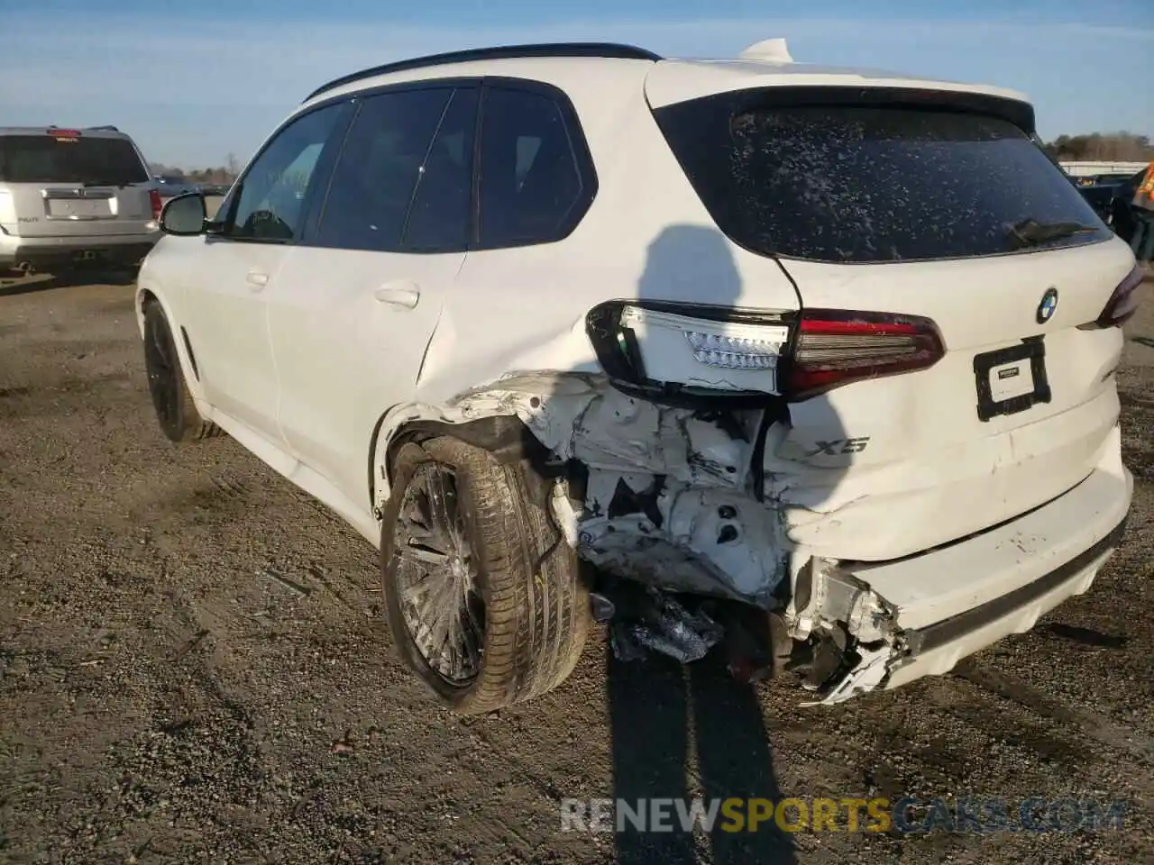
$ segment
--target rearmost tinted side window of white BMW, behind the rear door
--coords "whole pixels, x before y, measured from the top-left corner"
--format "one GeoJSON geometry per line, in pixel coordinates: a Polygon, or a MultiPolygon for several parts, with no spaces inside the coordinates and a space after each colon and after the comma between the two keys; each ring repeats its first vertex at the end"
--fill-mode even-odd
{"type": "Polygon", "coordinates": [[[559,101],[490,88],[481,127],[480,246],[560,240],[590,190],[559,101]]]}

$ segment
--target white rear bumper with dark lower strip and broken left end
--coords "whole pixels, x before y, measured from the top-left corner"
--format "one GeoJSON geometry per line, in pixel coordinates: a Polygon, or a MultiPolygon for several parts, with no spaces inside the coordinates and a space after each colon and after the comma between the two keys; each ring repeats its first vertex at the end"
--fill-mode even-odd
{"type": "MultiPolygon", "coordinates": [[[[864,648],[857,665],[818,701],[949,672],[1086,592],[1121,542],[1133,496],[1119,434],[1112,435],[1118,441],[1089,476],[1029,513],[897,562],[838,563],[835,579],[860,587],[874,609],[885,611],[871,629],[889,635],[886,645],[864,648]]],[[[817,610],[809,615],[820,618],[817,610]]]]}

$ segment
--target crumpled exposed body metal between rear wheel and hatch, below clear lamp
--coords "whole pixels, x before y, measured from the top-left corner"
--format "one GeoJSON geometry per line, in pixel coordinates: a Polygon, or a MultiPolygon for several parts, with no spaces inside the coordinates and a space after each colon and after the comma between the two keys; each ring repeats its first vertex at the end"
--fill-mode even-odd
{"type": "Polygon", "coordinates": [[[602,376],[549,373],[508,376],[455,408],[516,414],[559,460],[586,468],[584,501],[552,503],[583,558],[667,591],[769,606],[786,554],[778,513],[750,488],[760,411],[660,406],[602,376]]]}

